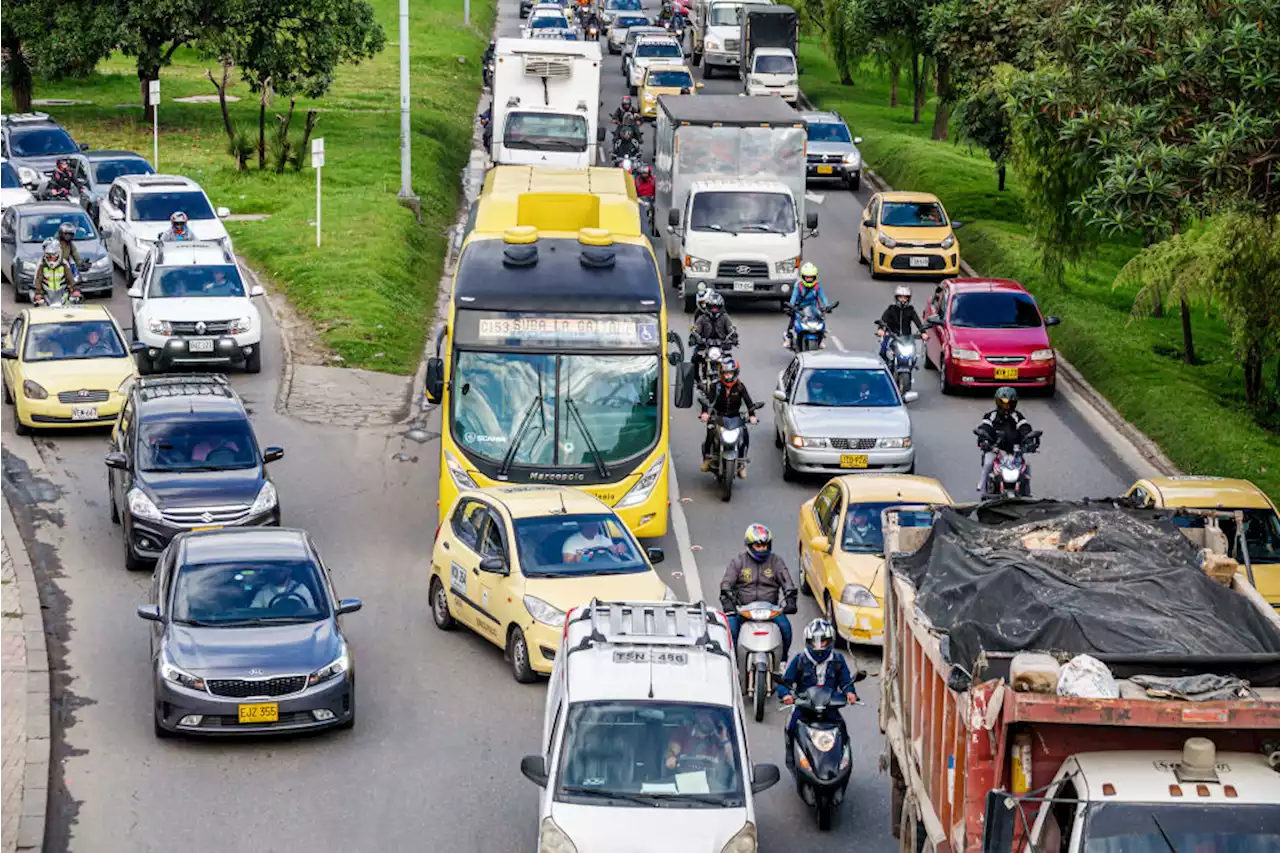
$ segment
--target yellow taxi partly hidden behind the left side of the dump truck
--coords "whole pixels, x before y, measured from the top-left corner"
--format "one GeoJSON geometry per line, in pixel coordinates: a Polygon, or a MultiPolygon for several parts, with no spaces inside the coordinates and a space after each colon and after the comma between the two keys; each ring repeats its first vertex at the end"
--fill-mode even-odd
{"type": "MultiPolygon", "coordinates": [[[[899,505],[950,505],[929,476],[845,474],[800,506],[800,588],[818,598],[828,622],[850,643],[884,643],[884,540],[881,512],[899,505]]],[[[931,512],[904,524],[933,524],[931,512]]],[[[908,526],[911,526],[908,524],[908,526]]]]}

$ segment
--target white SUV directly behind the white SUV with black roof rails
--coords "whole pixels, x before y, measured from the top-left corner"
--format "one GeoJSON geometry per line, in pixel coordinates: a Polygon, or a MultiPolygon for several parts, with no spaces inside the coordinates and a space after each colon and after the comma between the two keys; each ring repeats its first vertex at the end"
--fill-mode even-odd
{"type": "Polygon", "coordinates": [[[187,227],[196,240],[224,241],[230,247],[219,220],[232,211],[215,210],[195,181],[173,174],[127,174],[111,183],[99,206],[97,224],[106,254],[128,280],[137,277],[147,252],[169,231],[169,216],[179,210],[187,214],[187,227]]]}

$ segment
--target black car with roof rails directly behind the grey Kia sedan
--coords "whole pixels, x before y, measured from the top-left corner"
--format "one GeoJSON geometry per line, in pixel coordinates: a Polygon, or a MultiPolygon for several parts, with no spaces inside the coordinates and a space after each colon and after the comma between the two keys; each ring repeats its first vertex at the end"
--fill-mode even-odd
{"type": "Polygon", "coordinates": [[[174,535],[279,526],[280,502],[239,396],[218,374],[143,377],[111,430],[106,485],[124,564],[146,569],[174,535]]]}

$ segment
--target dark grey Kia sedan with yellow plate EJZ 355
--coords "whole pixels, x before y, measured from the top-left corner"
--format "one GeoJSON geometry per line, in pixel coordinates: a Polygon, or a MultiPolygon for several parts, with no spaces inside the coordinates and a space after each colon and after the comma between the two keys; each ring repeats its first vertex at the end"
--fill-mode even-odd
{"type": "Polygon", "coordinates": [[[178,534],[151,603],[157,738],[287,734],[356,722],[355,661],[311,538],[282,528],[178,534]]]}

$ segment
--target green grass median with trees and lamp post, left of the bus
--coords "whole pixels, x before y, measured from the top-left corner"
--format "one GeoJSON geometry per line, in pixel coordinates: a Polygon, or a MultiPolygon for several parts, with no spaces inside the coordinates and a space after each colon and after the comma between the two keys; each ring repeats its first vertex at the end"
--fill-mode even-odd
{"type": "MultiPolygon", "coordinates": [[[[330,92],[298,101],[294,143],[307,106],[324,110],[315,136],[325,140],[323,247],[315,245],[315,174],[261,173],[256,158],[236,172],[218,104],[175,104],[174,97],[210,95],[205,69],[214,63],[180,50],[161,72],[160,169],[200,182],[215,205],[233,213],[266,213],[261,222],[228,223],[236,248],[270,275],[320,339],[348,366],[412,373],[421,357],[436,283],[453,223],[460,173],[471,151],[472,115],[480,92],[480,54],[493,26],[494,4],[472,4],[472,27],[462,24],[456,0],[419,0],[411,12],[413,190],[422,224],[397,204],[399,190],[398,4],[371,0],[387,32],[379,56],[339,69],[330,92]],[[458,63],[458,56],[465,61],[458,63]]],[[[215,76],[219,70],[214,68],[215,76]]],[[[233,72],[232,120],[256,138],[257,99],[233,72]]],[[[133,61],[113,56],[84,79],[37,81],[36,97],[93,101],[49,111],[92,147],[132,149],[151,156],[151,127],[143,123],[133,61]],[[120,106],[133,105],[133,106],[120,106]]],[[[0,92],[0,111],[13,101],[0,92]]],[[[268,134],[274,114],[268,109],[268,134]]]]}

